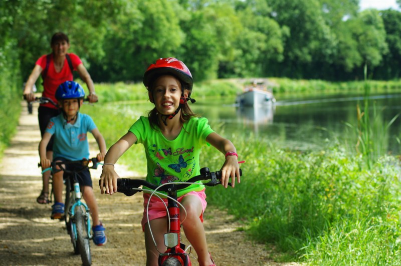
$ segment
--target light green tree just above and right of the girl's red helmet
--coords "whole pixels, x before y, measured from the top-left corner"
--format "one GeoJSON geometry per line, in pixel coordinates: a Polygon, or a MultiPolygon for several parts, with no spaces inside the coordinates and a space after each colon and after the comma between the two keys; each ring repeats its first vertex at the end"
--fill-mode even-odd
{"type": "Polygon", "coordinates": [[[234,58],[233,41],[241,23],[230,4],[196,6],[181,23],[185,32],[182,56],[196,80],[216,78],[220,62],[234,58]]]}

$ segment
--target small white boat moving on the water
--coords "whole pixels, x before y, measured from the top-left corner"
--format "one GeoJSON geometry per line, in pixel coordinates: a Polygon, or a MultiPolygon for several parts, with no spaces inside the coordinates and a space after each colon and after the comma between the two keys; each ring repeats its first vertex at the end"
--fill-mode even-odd
{"type": "Polygon", "coordinates": [[[276,102],[272,90],[264,83],[252,83],[244,88],[244,92],[237,96],[236,103],[240,106],[272,106],[276,102]]]}

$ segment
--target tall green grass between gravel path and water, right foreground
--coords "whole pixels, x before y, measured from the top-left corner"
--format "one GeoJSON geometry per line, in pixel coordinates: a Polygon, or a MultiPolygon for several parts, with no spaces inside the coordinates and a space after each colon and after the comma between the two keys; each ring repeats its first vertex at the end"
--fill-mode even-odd
{"type": "MultiPolygon", "coordinates": [[[[243,219],[253,239],[285,252],[276,260],[401,263],[395,158],[383,157],[369,170],[340,147],[299,153],[263,140],[236,144],[247,160],[242,182],[208,188],[208,201],[243,219]]],[[[209,158],[207,165],[221,161],[209,158]]]]}

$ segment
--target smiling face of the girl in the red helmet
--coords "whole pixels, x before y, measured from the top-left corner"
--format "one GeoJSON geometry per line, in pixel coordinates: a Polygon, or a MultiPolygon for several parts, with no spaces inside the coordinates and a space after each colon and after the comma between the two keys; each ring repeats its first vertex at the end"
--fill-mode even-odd
{"type": "MultiPolygon", "coordinates": [[[[188,90],[184,90],[185,97],[188,90]]],[[[179,106],[181,97],[181,83],[171,75],[162,75],[154,82],[152,92],[149,92],[150,101],[154,103],[159,113],[172,114],[179,106]]]]}

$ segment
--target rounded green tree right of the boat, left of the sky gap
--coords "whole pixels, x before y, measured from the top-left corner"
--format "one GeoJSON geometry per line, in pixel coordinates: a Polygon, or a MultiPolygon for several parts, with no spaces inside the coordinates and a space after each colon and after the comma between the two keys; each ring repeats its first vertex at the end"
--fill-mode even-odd
{"type": "Polygon", "coordinates": [[[336,50],[336,37],[325,20],[318,0],[267,0],[272,17],[289,28],[284,60],[276,64],[275,74],[289,77],[314,77],[313,62],[329,60],[336,50]]]}

